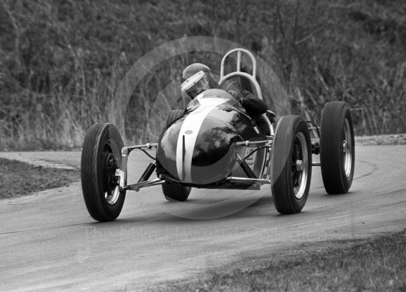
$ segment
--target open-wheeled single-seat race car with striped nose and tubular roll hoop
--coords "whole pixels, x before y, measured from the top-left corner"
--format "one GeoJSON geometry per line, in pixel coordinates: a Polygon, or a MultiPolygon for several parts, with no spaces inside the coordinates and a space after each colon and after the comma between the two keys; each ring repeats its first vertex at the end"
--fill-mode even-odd
{"type": "MultiPolygon", "coordinates": [[[[221,62],[219,84],[240,78],[242,84],[249,84],[245,89],[263,99],[255,75],[253,54],[234,49],[221,62]],[[225,60],[231,54],[237,55],[237,70],[224,76],[225,60]],[[252,60],[252,75],[241,70],[243,54],[252,60]]],[[[276,122],[268,111],[263,117],[268,135],[226,90],[209,89],[191,100],[186,109],[171,111],[155,143],[124,147],[113,124],[91,126],[81,158],[82,191],[89,214],[96,221],[113,221],[127,191],[156,185],[161,185],[164,198],[170,201],[187,200],[193,188],[259,190],[270,185],[276,210],[294,214],[306,204],[313,166],[321,167],[327,193],[349,191],[355,142],[345,102],[325,104],[321,127],[299,116],[283,116],[276,122]],[[310,130],[317,133],[317,141],[311,140],[310,130]],[[156,148],[156,157],[145,151],[151,148],[156,148]],[[134,149],[143,150],[154,161],[136,184],[128,185],[127,161],[134,149]],[[320,155],[320,163],[313,163],[313,155],[320,155]],[[157,178],[150,179],[153,172],[157,178]]]]}

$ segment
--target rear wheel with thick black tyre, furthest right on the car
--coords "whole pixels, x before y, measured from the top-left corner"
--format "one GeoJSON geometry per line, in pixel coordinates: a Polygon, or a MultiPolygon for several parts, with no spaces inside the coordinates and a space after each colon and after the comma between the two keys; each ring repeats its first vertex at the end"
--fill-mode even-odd
{"type": "Polygon", "coordinates": [[[354,177],[355,140],[350,107],[327,102],[321,116],[320,164],[323,185],[329,194],[350,190],[354,177]]]}

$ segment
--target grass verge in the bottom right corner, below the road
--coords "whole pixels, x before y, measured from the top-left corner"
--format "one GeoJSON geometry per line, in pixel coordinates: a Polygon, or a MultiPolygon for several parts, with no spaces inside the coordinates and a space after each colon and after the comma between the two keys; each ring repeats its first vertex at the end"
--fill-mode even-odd
{"type": "Polygon", "coordinates": [[[406,229],[365,240],[331,242],[272,258],[250,259],[205,280],[154,290],[165,291],[406,291],[406,229]],[[337,247],[338,246],[338,247],[337,247]],[[318,247],[316,247],[318,248],[318,247]]]}

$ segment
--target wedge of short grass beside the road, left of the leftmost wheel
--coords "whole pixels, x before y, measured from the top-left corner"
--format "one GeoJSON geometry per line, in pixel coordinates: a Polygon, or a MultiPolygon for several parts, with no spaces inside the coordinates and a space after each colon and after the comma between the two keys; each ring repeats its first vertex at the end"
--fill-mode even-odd
{"type": "Polygon", "coordinates": [[[69,186],[80,180],[79,170],[32,166],[0,158],[0,199],[30,195],[34,192],[69,186]]]}

